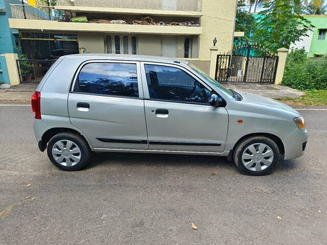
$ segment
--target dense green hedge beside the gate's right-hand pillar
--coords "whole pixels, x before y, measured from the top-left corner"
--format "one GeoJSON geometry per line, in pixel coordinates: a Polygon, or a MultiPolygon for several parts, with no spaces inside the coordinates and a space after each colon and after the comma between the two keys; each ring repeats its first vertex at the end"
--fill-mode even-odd
{"type": "Polygon", "coordinates": [[[304,49],[287,56],[282,85],[299,89],[327,89],[327,58],[309,60],[304,49]]]}

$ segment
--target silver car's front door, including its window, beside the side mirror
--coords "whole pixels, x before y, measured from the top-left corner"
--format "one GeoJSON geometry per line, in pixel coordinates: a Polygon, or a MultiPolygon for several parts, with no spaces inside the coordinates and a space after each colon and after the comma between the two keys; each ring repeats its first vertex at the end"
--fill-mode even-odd
{"type": "Polygon", "coordinates": [[[182,66],[142,62],[149,149],[224,151],[228,113],[209,104],[213,92],[182,66]]]}

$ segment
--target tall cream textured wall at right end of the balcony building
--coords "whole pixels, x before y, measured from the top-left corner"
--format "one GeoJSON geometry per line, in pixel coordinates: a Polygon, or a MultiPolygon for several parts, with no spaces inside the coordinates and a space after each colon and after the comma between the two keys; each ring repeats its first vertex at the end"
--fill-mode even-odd
{"type": "Polygon", "coordinates": [[[232,48],[235,28],[237,0],[202,0],[199,58],[209,59],[213,39],[218,42],[218,52],[228,52],[232,48]],[[212,17],[208,17],[212,16],[212,17]]]}

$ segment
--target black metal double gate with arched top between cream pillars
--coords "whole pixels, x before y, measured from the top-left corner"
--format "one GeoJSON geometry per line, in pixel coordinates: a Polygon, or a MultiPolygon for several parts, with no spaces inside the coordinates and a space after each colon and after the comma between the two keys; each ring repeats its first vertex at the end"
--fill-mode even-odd
{"type": "Polygon", "coordinates": [[[263,47],[243,45],[227,54],[217,56],[218,82],[274,83],[278,56],[263,47]]]}

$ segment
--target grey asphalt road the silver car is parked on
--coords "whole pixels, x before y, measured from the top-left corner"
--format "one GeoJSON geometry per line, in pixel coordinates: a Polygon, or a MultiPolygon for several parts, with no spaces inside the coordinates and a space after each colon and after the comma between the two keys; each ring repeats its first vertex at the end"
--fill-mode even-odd
{"type": "Polygon", "coordinates": [[[61,171],[31,108],[0,106],[0,244],[327,244],[327,111],[301,114],[305,156],[250,177],[225,158],[151,154],[61,171]]]}

